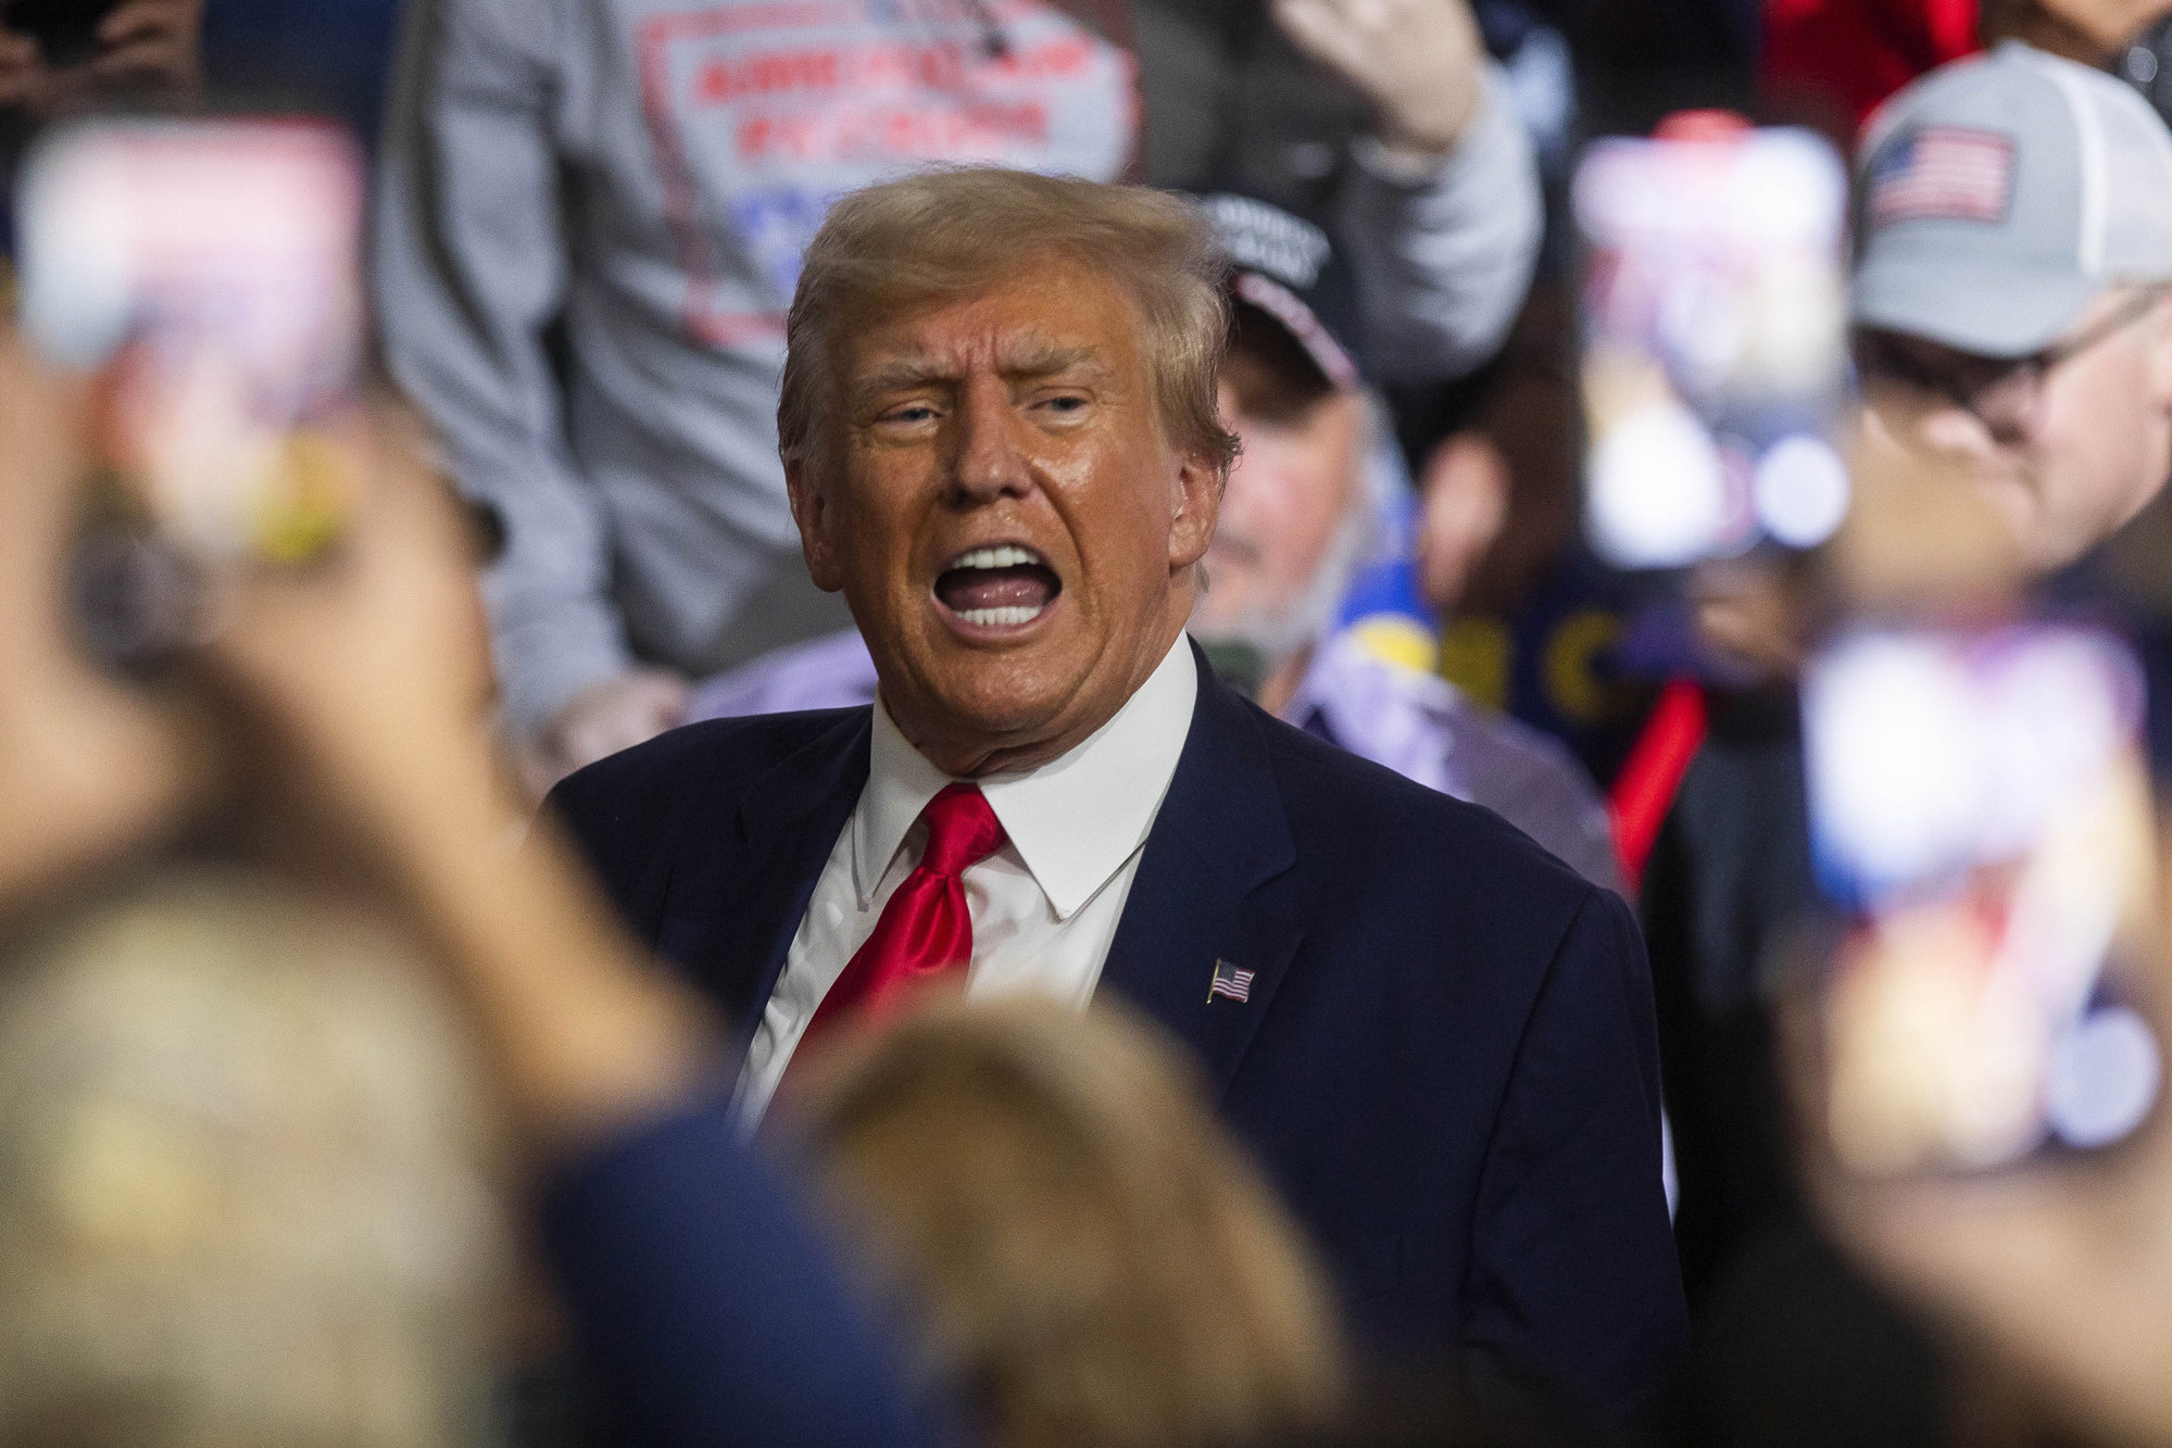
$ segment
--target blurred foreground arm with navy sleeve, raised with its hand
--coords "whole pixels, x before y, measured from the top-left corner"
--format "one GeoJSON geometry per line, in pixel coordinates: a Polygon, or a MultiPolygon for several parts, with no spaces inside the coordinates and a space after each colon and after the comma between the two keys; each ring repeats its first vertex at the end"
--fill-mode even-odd
{"type": "Polygon", "coordinates": [[[654,1444],[912,1444],[893,1355],[736,1135],[717,1033],[495,771],[450,497],[397,436],[341,556],[237,584],[206,662],[434,944],[495,1062],[576,1326],[654,1444]]]}

